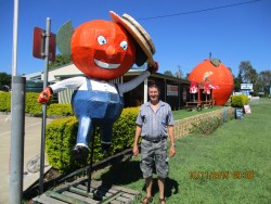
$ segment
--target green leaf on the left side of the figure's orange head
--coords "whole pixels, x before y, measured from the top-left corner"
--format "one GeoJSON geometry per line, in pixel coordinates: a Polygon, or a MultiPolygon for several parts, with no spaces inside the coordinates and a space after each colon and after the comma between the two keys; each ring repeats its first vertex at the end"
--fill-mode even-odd
{"type": "Polygon", "coordinates": [[[66,22],[60,27],[56,34],[56,44],[60,52],[64,55],[70,56],[70,40],[74,33],[72,21],[66,22]]]}

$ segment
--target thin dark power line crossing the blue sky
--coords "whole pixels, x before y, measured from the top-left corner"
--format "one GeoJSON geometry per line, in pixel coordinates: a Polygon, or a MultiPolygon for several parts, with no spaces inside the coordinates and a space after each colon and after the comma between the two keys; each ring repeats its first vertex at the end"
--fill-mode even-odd
{"type": "Polygon", "coordinates": [[[193,13],[201,13],[201,12],[207,12],[207,11],[212,11],[212,10],[238,7],[238,5],[243,5],[243,4],[255,3],[257,1],[260,1],[260,0],[253,0],[253,1],[246,1],[246,2],[241,2],[241,3],[229,4],[229,5],[221,5],[221,7],[182,12],[182,13],[175,13],[175,14],[168,14],[168,15],[158,15],[158,16],[154,16],[154,17],[140,17],[137,20],[139,21],[139,20],[156,20],[156,18],[162,18],[162,17],[173,17],[173,16],[178,16],[178,15],[188,15],[188,14],[193,14],[193,13]]]}

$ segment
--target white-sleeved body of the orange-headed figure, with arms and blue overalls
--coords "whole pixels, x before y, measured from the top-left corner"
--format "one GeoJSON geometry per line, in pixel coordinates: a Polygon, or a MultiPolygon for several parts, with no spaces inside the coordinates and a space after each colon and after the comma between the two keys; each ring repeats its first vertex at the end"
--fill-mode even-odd
{"type": "Polygon", "coordinates": [[[91,131],[96,126],[101,129],[102,149],[106,153],[113,137],[113,124],[118,119],[124,109],[124,93],[139,86],[150,75],[151,73],[145,71],[125,84],[74,77],[50,87],[53,92],[60,92],[67,88],[75,89],[72,105],[79,122],[75,152],[87,153],[85,148],[88,149],[91,131]]]}

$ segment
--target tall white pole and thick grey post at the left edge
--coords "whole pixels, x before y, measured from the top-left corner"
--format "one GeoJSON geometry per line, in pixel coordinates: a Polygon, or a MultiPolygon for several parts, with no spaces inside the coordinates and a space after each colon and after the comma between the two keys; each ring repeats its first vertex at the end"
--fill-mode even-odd
{"type": "Polygon", "coordinates": [[[25,77],[17,76],[17,20],[18,0],[14,0],[12,92],[11,92],[11,152],[10,152],[10,202],[23,200],[24,132],[25,132],[25,77]]]}

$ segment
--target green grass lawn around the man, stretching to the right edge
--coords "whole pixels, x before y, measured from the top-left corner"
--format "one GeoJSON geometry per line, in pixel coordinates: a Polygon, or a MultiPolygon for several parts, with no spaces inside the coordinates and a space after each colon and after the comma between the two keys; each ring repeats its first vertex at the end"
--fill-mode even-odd
{"type": "MultiPolygon", "coordinates": [[[[271,103],[250,109],[244,119],[230,120],[209,136],[177,140],[166,181],[167,203],[271,203],[271,103]]],[[[94,178],[145,195],[139,157],[105,168],[94,178]]],[[[158,203],[156,181],[153,203],[158,203]]]]}

